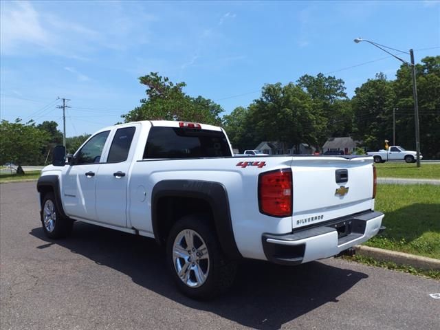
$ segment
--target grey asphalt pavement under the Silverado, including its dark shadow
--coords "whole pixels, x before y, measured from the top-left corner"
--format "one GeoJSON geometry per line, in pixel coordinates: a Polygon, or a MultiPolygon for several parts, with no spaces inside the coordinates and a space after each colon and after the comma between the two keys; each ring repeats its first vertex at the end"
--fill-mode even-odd
{"type": "Polygon", "coordinates": [[[439,329],[439,281],[340,259],[248,261],[229,294],[193,301],[152,240],[78,222],[50,241],[35,182],[0,193],[1,329],[439,329]]]}

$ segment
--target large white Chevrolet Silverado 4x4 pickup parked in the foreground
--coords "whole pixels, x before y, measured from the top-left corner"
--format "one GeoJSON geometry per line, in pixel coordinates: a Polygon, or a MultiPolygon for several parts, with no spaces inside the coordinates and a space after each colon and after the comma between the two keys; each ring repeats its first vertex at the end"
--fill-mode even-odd
{"type": "Polygon", "coordinates": [[[375,236],[371,157],[233,157],[223,129],[131,122],[91,135],[75,155],[57,146],[37,183],[50,239],[75,220],[166,247],[184,294],[214,296],[242,258],[298,265],[375,236]]]}

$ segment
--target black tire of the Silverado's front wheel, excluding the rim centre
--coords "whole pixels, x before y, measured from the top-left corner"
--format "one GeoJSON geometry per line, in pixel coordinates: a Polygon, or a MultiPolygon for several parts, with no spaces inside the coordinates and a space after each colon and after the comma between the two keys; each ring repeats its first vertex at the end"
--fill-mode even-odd
{"type": "Polygon", "coordinates": [[[72,233],[74,222],[72,219],[63,217],[60,210],[56,206],[55,195],[53,192],[47,192],[43,197],[41,204],[41,225],[43,225],[44,233],[50,239],[62,239],[72,233]],[[52,204],[51,204],[52,203],[52,204]],[[45,207],[52,206],[54,208],[54,221],[52,225],[45,225],[46,210],[45,207]]]}

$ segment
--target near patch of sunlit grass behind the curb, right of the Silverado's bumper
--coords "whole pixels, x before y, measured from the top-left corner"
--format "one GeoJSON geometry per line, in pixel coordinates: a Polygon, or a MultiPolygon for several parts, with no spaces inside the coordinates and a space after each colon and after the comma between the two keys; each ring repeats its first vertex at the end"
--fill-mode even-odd
{"type": "Polygon", "coordinates": [[[386,230],[366,245],[440,259],[440,186],[377,186],[375,210],[386,230]]]}

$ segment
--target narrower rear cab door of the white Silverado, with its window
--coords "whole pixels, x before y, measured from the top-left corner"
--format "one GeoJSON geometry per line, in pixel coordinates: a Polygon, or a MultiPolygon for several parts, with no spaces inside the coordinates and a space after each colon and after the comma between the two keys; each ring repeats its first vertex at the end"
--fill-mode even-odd
{"type": "Polygon", "coordinates": [[[131,142],[135,131],[136,126],[115,130],[107,162],[101,164],[98,170],[96,213],[99,222],[126,227],[127,189],[134,149],[131,142]]]}

